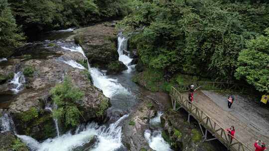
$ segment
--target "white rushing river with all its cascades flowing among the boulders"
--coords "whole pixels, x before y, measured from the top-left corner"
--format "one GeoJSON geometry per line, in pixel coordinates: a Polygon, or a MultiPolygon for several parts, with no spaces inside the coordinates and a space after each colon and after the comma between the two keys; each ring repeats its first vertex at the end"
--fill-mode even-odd
{"type": "MultiPolygon", "coordinates": [[[[62,32],[72,32],[72,30],[54,31],[51,34],[54,35],[55,39],[53,39],[51,35],[49,35],[49,39],[57,41],[57,39],[63,38],[61,35],[71,35],[71,33],[63,34],[62,32]]],[[[42,38],[44,40],[44,37],[42,38]]],[[[98,68],[92,68],[88,63],[88,71],[90,72],[94,85],[102,89],[104,95],[111,99],[112,107],[108,110],[108,114],[110,114],[109,116],[111,117],[110,121],[104,125],[98,125],[95,122],[81,124],[77,128],[75,134],[67,132],[66,134],[60,135],[57,129],[58,136],[52,139],[47,139],[44,142],[38,142],[29,136],[17,135],[31,149],[31,151],[127,151],[122,144],[121,123],[123,120],[128,118],[128,114],[132,110],[132,107],[138,102],[138,86],[132,81],[132,76],[136,72],[134,68],[135,65],[130,65],[132,59],[128,55],[124,54],[124,51],[127,51],[127,41],[127,38],[119,34],[119,61],[122,61],[128,67],[128,70],[121,74],[107,75],[106,71],[101,71],[98,68]],[[97,140],[95,145],[85,147],[92,139],[97,140]]],[[[72,52],[79,52],[85,57],[82,48],[74,43],[64,42],[62,40],[59,40],[56,43],[63,49],[72,52]]],[[[85,57],[85,59],[87,58],[85,57]]],[[[73,68],[84,68],[75,61],[62,60],[62,62],[72,66],[73,68]]],[[[23,76],[21,73],[16,73],[12,80],[14,84],[14,89],[12,89],[12,91],[16,93],[21,90],[20,87],[24,82],[24,80],[21,80],[21,76],[23,76]]],[[[46,106],[46,108],[52,111],[51,105],[46,106]]],[[[11,128],[8,128],[8,126],[10,125],[11,119],[8,121],[7,117],[7,114],[3,116],[2,118],[5,119],[2,119],[2,121],[5,122],[5,129],[10,130],[11,128]]],[[[54,119],[54,121],[55,127],[58,128],[57,120],[54,119]]],[[[148,137],[145,133],[145,136],[147,136],[145,139],[147,139],[149,145],[151,144],[150,146],[152,146],[152,148],[156,151],[168,151],[167,148],[169,149],[169,145],[161,138],[160,135],[151,136],[150,138],[150,136],[148,137]],[[164,147],[160,147],[158,150],[158,147],[156,146],[164,147]]]]}

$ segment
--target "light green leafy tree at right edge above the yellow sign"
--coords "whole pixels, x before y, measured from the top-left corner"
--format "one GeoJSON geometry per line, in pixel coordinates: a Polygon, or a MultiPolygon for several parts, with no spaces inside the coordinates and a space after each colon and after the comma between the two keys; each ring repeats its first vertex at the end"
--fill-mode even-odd
{"type": "Polygon", "coordinates": [[[247,49],[240,52],[236,77],[243,77],[259,91],[269,93],[269,28],[266,33],[251,40],[247,49]]]}

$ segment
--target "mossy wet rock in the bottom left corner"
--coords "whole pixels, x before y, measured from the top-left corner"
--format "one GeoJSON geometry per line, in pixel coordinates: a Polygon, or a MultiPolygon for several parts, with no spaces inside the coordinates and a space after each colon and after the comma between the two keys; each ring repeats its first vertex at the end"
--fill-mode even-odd
{"type": "Polygon", "coordinates": [[[11,132],[0,132],[0,151],[29,151],[11,132]]]}

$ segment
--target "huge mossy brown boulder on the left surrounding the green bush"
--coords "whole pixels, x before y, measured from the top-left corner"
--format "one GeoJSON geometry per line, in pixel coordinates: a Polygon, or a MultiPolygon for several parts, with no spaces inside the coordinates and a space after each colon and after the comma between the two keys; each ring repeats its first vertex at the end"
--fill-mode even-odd
{"type": "MultiPolygon", "coordinates": [[[[23,72],[26,78],[24,89],[12,99],[8,112],[12,115],[19,135],[28,135],[38,141],[57,135],[51,111],[46,110],[45,105],[53,104],[50,90],[57,83],[62,82],[65,76],[70,77],[72,83],[84,92],[83,99],[77,103],[81,122],[101,121],[110,106],[110,99],[92,84],[86,68],[73,68],[64,62],[84,61],[85,57],[81,53],[62,49],[56,44],[51,45],[52,47],[47,45],[46,42],[44,44],[46,48],[42,49],[47,49],[47,52],[52,52],[53,55],[36,57],[38,54],[35,54],[27,59],[18,56],[16,58],[20,59],[19,66],[10,64],[1,69],[10,68],[10,72],[25,71],[23,72]]],[[[70,127],[64,124],[59,123],[59,126],[61,134],[70,130],[70,127]]]]}

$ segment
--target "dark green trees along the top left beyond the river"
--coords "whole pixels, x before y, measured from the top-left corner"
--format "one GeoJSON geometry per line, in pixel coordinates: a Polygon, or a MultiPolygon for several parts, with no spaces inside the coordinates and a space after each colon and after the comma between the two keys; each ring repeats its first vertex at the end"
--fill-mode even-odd
{"type": "Polygon", "coordinates": [[[12,54],[25,37],[123,17],[132,0],[0,0],[0,58],[12,54]]]}

